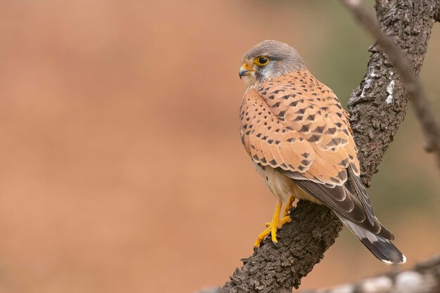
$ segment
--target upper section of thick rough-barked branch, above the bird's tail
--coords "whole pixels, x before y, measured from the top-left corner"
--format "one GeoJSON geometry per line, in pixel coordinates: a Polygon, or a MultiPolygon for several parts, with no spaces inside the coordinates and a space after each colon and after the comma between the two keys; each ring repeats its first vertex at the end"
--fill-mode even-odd
{"type": "MultiPolygon", "coordinates": [[[[394,39],[417,78],[427,52],[436,0],[376,1],[377,20],[394,39]]],[[[375,44],[368,69],[349,100],[351,127],[358,145],[363,182],[370,185],[382,157],[408,110],[408,94],[392,63],[375,44]]]]}

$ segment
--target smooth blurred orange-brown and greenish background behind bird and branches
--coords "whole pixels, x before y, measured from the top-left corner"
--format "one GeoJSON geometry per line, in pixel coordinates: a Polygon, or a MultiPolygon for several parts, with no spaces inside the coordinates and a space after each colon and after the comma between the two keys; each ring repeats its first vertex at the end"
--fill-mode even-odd
{"type": "MultiPolygon", "coordinates": [[[[344,105],[372,43],[338,1],[0,1],[0,292],[222,285],[275,200],[238,135],[240,58],[295,46],[344,105]]],[[[440,25],[422,70],[440,113],[440,25]]],[[[408,265],[440,252],[410,111],[370,197],[408,265]]],[[[303,288],[387,271],[346,230],[303,288]]]]}

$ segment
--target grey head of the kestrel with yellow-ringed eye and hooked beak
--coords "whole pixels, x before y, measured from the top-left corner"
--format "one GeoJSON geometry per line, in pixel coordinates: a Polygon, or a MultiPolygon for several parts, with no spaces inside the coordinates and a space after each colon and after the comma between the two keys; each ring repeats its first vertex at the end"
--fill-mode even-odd
{"type": "Polygon", "coordinates": [[[245,53],[238,74],[247,86],[254,86],[304,67],[304,60],[295,48],[280,41],[266,40],[245,53]]]}

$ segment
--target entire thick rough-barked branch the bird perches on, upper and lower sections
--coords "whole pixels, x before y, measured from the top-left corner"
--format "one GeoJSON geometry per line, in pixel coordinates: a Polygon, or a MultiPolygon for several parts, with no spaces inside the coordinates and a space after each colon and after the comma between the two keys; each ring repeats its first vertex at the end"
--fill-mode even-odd
{"type": "MultiPolygon", "coordinates": [[[[438,1],[377,1],[375,8],[382,29],[393,37],[418,77],[434,15],[439,11],[438,1]]],[[[408,108],[407,93],[392,63],[377,44],[369,51],[372,55],[367,72],[349,101],[351,126],[367,186],[408,108]],[[394,85],[390,86],[392,81],[394,85]]],[[[270,240],[263,242],[252,256],[243,259],[243,266],[233,273],[222,292],[291,292],[292,287],[299,287],[301,278],[333,244],[342,224],[332,211],[311,202],[300,201],[291,215],[293,221],[279,232],[278,245],[270,240]]]]}

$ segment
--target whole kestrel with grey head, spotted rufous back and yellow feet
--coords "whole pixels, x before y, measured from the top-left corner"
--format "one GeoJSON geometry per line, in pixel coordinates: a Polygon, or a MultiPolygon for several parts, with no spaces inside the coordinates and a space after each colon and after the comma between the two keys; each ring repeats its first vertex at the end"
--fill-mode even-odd
{"type": "Polygon", "coordinates": [[[257,173],[278,203],[269,233],[290,221],[297,199],[324,204],[377,259],[405,263],[394,236],[375,217],[361,182],[349,114],[328,86],[307,70],[299,53],[279,41],[262,41],[242,58],[247,84],[240,106],[240,136],[257,173]],[[287,202],[283,218],[280,212],[287,202]]]}

